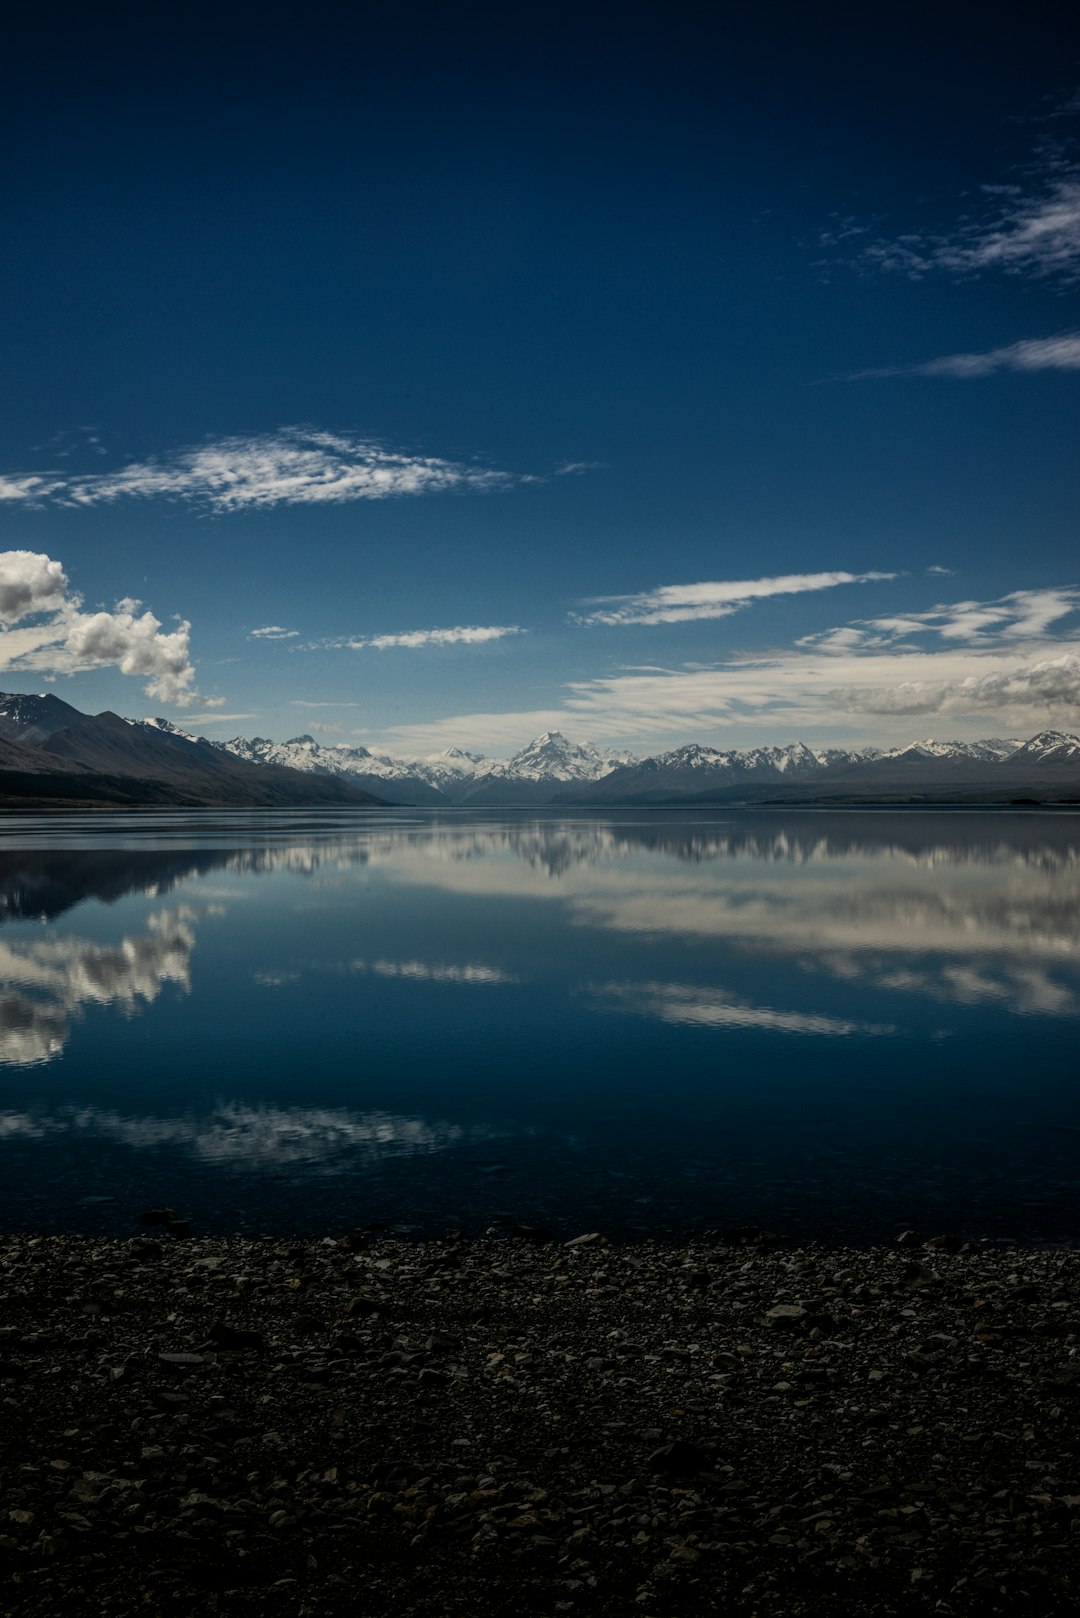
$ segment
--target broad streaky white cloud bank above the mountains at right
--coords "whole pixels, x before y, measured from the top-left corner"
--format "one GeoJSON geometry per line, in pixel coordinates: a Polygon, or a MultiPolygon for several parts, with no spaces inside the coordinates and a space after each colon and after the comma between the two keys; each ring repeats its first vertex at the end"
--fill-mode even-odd
{"type": "Polygon", "coordinates": [[[544,730],[649,749],[717,733],[733,741],[748,730],[755,739],[850,738],[857,714],[876,715],[868,739],[918,712],[970,714],[980,725],[994,714],[1004,733],[1030,722],[1072,725],[1080,652],[1061,623],[1078,607],[1072,587],[939,604],[842,625],[767,655],[572,681],[551,707],[402,725],[384,744],[419,752],[458,743],[499,752],[544,730]]]}

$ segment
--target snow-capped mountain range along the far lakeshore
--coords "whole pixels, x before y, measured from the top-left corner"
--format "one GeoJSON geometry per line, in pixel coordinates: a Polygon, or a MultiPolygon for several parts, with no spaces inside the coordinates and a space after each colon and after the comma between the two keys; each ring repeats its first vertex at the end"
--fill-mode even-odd
{"type": "Polygon", "coordinates": [[[313,736],[209,741],[172,720],[79,714],[0,694],[0,801],[176,806],[586,806],[708,803],[1080,803],[1080,738],[1040,731],[899,748],[806,743],[631,752],[546,731],[512,759],[463,748],[392,757],[313,736]]]}

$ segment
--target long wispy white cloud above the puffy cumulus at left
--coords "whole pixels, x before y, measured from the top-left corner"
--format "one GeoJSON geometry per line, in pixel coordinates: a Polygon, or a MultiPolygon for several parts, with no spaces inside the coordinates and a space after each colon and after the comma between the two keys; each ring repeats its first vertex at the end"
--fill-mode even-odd
{"type": "Polygon", "coordinates": [[[474,461],[392,450],[376,438],[282,427],[219,438],[115,472],[16,472],[0,477],[0,502],[97,506],[117,500],[180,500],[212,511],[332,505],[445,490],[495,490],[536,482],[474,461]]]}

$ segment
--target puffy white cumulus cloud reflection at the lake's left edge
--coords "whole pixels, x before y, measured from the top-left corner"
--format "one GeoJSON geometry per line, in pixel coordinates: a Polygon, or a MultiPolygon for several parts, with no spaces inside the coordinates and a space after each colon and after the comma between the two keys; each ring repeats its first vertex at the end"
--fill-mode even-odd
{"type": "Polygon", "coordinates": [[[165,984],[191,992],[194,927],[188,904],[157,911],[146,932],[120,943],[42,937],[0,942],[0,1063],[29,1066],[63,1050],[70,1019],[87,1005],[134,1016],[165,984]]]}

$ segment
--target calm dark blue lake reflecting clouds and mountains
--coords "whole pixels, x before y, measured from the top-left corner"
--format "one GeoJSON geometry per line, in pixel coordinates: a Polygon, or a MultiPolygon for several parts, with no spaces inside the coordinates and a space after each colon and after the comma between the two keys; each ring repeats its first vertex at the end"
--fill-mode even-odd
{"type": "Polygon", "coordinates": [[[1080,1238],[1080,817],[0,824],[0,1228],[1080,1238]]]}

